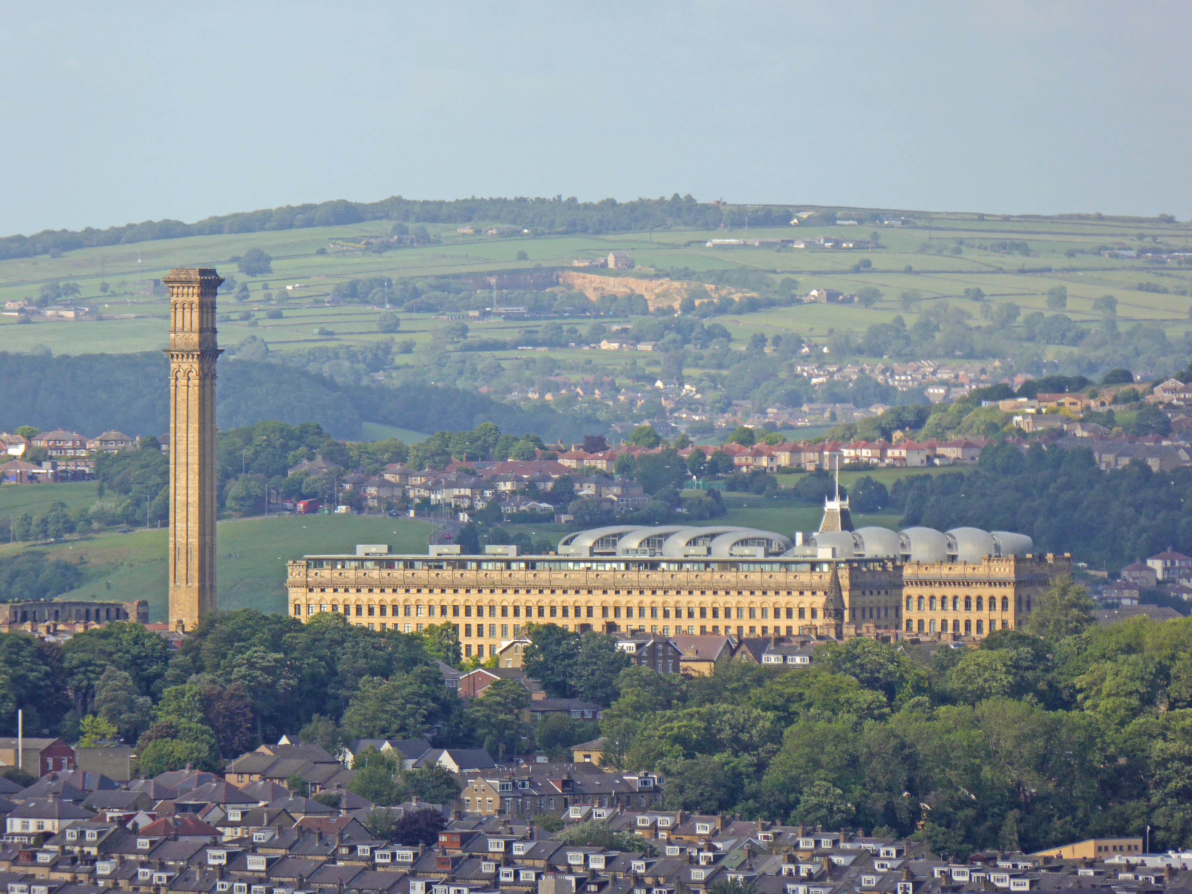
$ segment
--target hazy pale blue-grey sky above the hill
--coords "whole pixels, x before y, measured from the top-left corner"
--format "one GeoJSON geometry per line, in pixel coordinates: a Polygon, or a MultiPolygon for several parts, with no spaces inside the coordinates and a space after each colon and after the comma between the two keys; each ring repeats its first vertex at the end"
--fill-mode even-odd
{"type": "Polygon", "coordinates": [[[348,198],[1192,216],[1192,4],[18,4],[0,235],[348,198]]]}

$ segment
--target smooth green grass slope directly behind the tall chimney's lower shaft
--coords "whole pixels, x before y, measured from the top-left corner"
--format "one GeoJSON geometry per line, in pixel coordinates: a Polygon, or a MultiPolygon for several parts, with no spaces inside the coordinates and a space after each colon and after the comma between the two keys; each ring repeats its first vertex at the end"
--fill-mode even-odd
{"type": "MultiPolygon", "coordinates": [[[[352,553],[356,544],[426,552],[432,526],[384,516],[306,515],[216,526],[219,608],[285,611],[285,563],[310,553],[352,553]]],[[[50,544],[49,555],[83,564],[88,581],[57,598],[147,600],[150,621],[167,620],[167,530],[105,533],[50,544]]],[[[23,546],[0,546],[0,558],[23,546]]]]}

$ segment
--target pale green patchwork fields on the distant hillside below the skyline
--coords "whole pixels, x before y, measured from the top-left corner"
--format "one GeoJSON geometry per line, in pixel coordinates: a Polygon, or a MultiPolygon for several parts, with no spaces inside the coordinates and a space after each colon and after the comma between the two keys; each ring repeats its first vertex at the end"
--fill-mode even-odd
{"type": "MultiPolygon", "coordinates": [[[[1148,321],[1163,325],[1171,333],[1192,327],[1188,306],[1192,299],[1177,294],[1192,288],[1192,271],[1187,268],[1154,268],[1141,260],[1101,257],[1098,247],[1140,247],[1142,241],[1168,249],[1187,249],[1192,244],[1192,228],[1187,224],[1157,222],[1067,221],[1067,219],[979,219],[974,215],[921,216],[919,225],[905,229],[882,228],[881,247],[870,252],[833,252],[821,249],[787,249],[775,252],[762,248],[707,248],[710,237],[724,231],[668,230],[653,234],[567,235],[542,237],[496,238],[482,235],[461,236],[453,226],[432,228],[441,242],[421,248],[402,248],[384,255],[342,253],[330,250],[318,255],[333,240],[374,236],[386,232],[386,222],[371,222],[350,226],[310,230],[201,236],[135,246],[69,252],[61,257],[19,259],[0,262],[0,300],[29,298],[42,284],[70,280],[82,290],[80,303],[95,305],[105,315],[132,315],[131,319],[105,319],[79,323],[35,323],[15,325],[12,317],[0,317],[6,349],[27,350],[44,344],[55,353],[129,352],[161,348],[166,342],[167,321],[164,298],[139,294],[139,285],[150,277],[160,277],[170,267],[213,265],[224,273],[243,280],[235,265],[226,259],[260,247],[274,256],[274,273],[249,280],[254,300],[234,304],[225,299],[225,310],[249,310],[249,321],[221,323],[221,342],[232,346],[249,335],[265,339],[272,350],[287,350],[317,343],[359,343],[380,337],[375,333],[377,310],[362,306],[327,306],[323,297],[333,285],[365,275],[416,278],[478,271],[569,266],[575,257],[592,257],[611,249],[629,252],[639,267],[670,269],[755,268],[795,277],[800,290],[825,286],[856,291],[876,286],[884,298],[871,309],[802,305],[775,309],[763,313],[718,317],[734,337],[746,340],[753,333],[766,335],[797,333],[822,339],[830,330],[863,331],[873,323],[889,322],[901,313],[907,323],[913,313],[901,310],[899,294],[915,290],[924,298],[924,306],[935,300],[963,300],[968,287],[982,288],[993,303],[1014,302],[1023,312],[1045,310],[1047,290],[1064,285],[1069,299],[1067,313],[1075,321],[1095,319],[1092,303],[1106,292],[1113,293],[1118,304],[1119,323],[1148,321]],[[1140,240],[1141,237],[1141,240],[1140,240]],[[956,246],[962,254],[950,252],[956,246]],[[998,240],[1022,240],[1030,256],[994,250],[998,240]],[[1075,249],[1085,254],[1068,257],[1075,249]],[[517,261],[516,253],[524,250],[529,261],[517,261]],[[939,254],[938,252],[943,252],[939,254]],[[873,267],[855,272],[853,265],[868,259],[873,267]],[[1042,272],[1043,268],[1050,268],[1042,272]],[[909,269],[907,269],[909,268],[909,269]],[[1030,272],[1041,271],[1041,272],[1030,272]],[[100,294],[101,281],[111,290],[100,294]],[[1169,294],[1141,292],[1141,281],[1157,283],[1169,294]],[[286,290],[285,286],[294,286],[286,290]],[[265,286],[273,294],[273,303],[265,303],[265,286]],[[316,302],[318,302],[316,304],[316,302]],[[266,319],[267,310],[280,309],[281,319],[266,319]],[[316,336],[316,328],[327,328],[334,336],[316,336]]],[[[751,230],[753,237],[793,237],[811,240],[820,235],[857,236],[869,238],[869,226],[857,228],[783,228],[751,230]]],[[[962,305],[963,306],[963,305],[962,305]]],[[[970,305],[976,310],[975,305],[970,305]]],[[[977,316],[974,312],[974,317],[977,316]]],[[[405,362],[424,364],[428,348],[441,341],[447,321],[430,315],[401,315],[398,339],[412,339],[414,354],[402,358],[405,362]]],[[[473,337],[510,339],[526,324],[516,322],[478,322],[472,325],[473,337]]],[[[497,354],[513,358],[516,352],[497,354]]],[[[596,367],[620,366],[621,352],[586,352],[560,349],[551,356],[565,360],[589,360],[596,367]]],[[[638,358],[639,361],[642,358],[638,358]]]]}

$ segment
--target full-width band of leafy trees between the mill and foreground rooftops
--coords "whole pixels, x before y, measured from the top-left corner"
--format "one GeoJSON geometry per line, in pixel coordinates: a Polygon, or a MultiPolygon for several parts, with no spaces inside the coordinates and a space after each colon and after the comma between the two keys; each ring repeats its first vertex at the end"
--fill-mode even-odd
{"type": "MultiPolygon", "coordinates": [[[[855,639],[807,669],[731,662],[696,678],[629,666],[603,634],[530,626],[526,668],[552,696],[609,706],[606,760],[663,774],[669,809],[915,836],[956,857],[1148,825],[1156,849],[1188,846],[1192,620],[1098,627],[1089,607],[1061,581],[1028,628],[975,648],[855,639]]],[[[20,707],[26,731],[136,741],[147,774],[216,769],[299,728],[329,749],[426,735],[498,758],[558,757],[597,732],[526,721],[511,681],[467,706],[435,660],[459,664],[449,625],[375,633],[334,614],[219,613],[174,654],[128,623],[63,645],[2,634],[0,718],[11,733],[20,707]]],[[[455,790],[380,759],[354,788],[380,803],[455,790]]]]}

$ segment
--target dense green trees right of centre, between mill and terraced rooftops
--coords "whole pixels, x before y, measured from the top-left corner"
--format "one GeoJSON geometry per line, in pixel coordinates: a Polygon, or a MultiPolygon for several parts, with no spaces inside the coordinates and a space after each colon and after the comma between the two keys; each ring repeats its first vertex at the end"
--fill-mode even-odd
{"type": "Polygon", "coordinates": [[[909,836],[945,858],[1147,825],[1156,850],[1185,848],[1192,620],[1098,627],[1091,604],[1060,581],[1029,629],[976,648],[858,638],[794,671],[633,666],[604,760],[660,771],[668,809],[909,836]]]}

